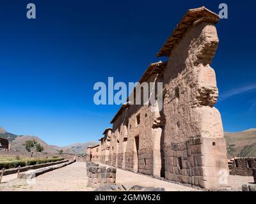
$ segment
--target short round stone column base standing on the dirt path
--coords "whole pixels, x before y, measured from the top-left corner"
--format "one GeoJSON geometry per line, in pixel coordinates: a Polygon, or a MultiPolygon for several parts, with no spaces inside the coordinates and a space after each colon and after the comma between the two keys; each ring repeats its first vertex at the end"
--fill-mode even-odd
{"type": "Polygon", "coordinates": [[[116,182],[116,168],[106,166],[99,166],[95,163],[86,163],[88,175],[88,187],[98,188],[115,184],[116,182]]]}

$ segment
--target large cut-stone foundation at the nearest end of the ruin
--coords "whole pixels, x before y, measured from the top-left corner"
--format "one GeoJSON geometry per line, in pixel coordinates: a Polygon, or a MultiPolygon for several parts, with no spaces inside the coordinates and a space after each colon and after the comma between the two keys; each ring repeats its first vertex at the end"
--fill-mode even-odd
{"type": "Polygon", "coordinates": [[[218,185],[220,174],[228,175],[223,145],[224,138],[191,138],[165,147],[165,178],[200,187],[218,185]]]}

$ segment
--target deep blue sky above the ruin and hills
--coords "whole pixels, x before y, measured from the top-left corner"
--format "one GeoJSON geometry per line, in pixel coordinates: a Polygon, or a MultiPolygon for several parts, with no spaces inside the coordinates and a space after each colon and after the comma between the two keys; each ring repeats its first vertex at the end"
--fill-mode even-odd
{"type": "MultiPolygon", "coordinates": [[[[1,1],[0,126],[52,145],[97,140],[118,106],[93,103],[95,82],[136,82],[189,8],[217,25],[216,71],[225,131],[256,128],[255,1],[1,1]],[[36,19],[26,4],[36,4],[36,19]]],[[[165,58],[161,58],[166,61],[165,58]]]]}

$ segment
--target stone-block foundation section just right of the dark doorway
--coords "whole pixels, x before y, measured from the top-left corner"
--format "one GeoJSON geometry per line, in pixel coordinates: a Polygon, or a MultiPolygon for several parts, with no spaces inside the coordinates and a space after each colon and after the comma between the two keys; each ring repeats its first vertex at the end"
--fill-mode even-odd
{"type": "Polygon", "coordinates": [[[154,165],[153,165],[153,150],[143,149],[139,151],[139,173],[153,175],[154,165]]]}

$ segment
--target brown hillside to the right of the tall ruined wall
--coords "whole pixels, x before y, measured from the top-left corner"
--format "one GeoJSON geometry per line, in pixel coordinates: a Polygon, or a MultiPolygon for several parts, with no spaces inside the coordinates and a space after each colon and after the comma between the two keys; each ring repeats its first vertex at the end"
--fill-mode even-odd
{"type": "Polygon", "coordinates": [[[256,128],[237,133],[224,133],[228,158],[256,157],[256,128]]]}

